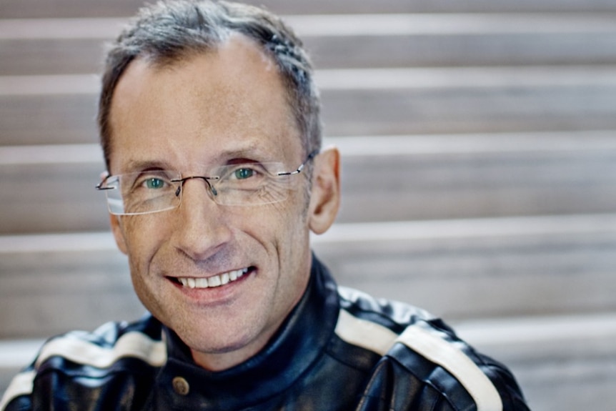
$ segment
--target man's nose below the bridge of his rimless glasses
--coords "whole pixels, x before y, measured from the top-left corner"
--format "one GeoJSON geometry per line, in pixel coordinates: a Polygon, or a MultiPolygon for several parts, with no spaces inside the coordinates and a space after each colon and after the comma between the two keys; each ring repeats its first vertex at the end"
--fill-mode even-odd
{"type": "Polygon", "coordinates": [[[174,246],[195,261],[203,261],[227,244],[232,232],[221,206],[214,203],[204,179],[182,182],[182,202],[175,210],[174,246]]]}

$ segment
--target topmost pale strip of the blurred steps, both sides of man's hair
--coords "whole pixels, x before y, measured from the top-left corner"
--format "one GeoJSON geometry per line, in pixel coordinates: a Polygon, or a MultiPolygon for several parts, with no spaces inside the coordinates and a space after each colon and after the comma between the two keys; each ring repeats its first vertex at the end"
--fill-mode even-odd
{"type": "MultiPolygon", "coordinates": [[[[605,13],[550,14],[309,14],[282,15],[302,38],[319,36],[611,33],[605,13]]],[[[128,17],[0,19],[0,40],[114,39],[128,17]]]]}

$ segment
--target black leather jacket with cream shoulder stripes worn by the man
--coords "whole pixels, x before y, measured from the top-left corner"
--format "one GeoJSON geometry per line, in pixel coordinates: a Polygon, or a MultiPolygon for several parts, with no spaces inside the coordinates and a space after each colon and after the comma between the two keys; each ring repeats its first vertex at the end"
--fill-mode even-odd
{"type": "Polygon", "coordinates": [[[407,304],[342,289],[317,259],[267,347],[230,370],[192,362],[151,316],[46,342],[6,411],[528,410],[511,373],[407,304]]]}

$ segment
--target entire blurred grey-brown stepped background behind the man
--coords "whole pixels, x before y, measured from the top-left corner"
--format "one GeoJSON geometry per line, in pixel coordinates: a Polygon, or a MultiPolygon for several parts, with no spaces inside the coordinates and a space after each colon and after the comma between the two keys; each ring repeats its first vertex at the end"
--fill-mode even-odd
{"type": "MultiPolygon", "coordinates": [[[[533,410],[613,410],[616,2],[262,0],[304,38],[343,207],[341,284],[442,315],[533,410]]],[[[136,0],[0,1],[0,392],[41,339],[139,317],[97,146],[136,0]]]]}

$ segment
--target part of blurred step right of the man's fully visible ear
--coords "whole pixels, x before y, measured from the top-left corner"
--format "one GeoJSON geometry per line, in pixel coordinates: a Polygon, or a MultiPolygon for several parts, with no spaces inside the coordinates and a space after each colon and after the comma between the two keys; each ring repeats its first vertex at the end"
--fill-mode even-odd
{"type": "Polygon", "coordinates": [[[342,153],[340,222],[616,209],[612,132],[331,141],[342,153]]]}

